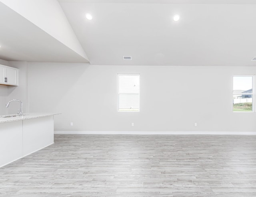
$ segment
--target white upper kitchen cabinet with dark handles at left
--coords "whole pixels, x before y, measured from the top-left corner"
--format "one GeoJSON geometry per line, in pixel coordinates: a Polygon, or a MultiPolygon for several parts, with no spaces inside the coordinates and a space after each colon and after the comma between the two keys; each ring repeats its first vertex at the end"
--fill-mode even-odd
{"type": "Polygon", "coordinates": [[[18,85],[19,69],[0,65],[0,84],[18,85]]]}

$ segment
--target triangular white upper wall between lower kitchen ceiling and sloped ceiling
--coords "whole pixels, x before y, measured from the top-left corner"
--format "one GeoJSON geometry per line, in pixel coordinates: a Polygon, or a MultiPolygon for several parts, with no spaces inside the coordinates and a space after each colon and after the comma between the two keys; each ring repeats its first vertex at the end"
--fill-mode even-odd
{"type": "Polygon", "coordinates": [[[0,0],[0,2],[88,60],[58,0],[0,0]]]}

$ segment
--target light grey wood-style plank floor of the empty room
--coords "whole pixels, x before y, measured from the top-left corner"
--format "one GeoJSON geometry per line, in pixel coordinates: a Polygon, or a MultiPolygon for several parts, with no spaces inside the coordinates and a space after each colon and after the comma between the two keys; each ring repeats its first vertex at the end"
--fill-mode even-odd
{"type": "Polygon", "coordinates": [[[5,197],[256,197],[256,136],[55,135],[0,168],[5,197]]]}

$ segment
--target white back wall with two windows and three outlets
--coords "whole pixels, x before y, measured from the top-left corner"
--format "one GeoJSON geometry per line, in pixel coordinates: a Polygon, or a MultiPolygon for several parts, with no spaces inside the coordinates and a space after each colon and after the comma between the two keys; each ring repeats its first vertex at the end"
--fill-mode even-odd
{"type": "Polygon", "coordinates": [[[232,112],[232,75],[255,73],[255,67],[28,63],[29,110],[62,112],[57,131],[253,132],[255,112],[232,112]],[[117,73],[140,73],[140,112],[117,112],[117,73]]]}

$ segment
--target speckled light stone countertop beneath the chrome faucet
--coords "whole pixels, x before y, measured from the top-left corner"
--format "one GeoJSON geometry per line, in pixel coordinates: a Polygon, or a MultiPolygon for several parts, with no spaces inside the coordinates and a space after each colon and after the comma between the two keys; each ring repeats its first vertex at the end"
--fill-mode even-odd
{"type": "Polygon", "coordinates": [[[45,116],[57,115],[57,114],[61,114],[61,113],[24,113],[23,116],[15,116],[17,114],[4,115],[4,116],[0,116],[0,123],[26,120],[31,118],[40,118],[45,116]],[[6,117],[6,116],[13,116],[13,117],[6,117]]]}

